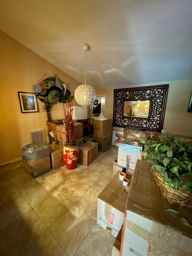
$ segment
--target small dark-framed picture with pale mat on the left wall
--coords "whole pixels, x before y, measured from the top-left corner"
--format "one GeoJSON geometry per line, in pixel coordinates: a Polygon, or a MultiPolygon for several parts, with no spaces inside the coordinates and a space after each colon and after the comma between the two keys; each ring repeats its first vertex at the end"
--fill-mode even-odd
{"type": "Polygon", "coordinates": [[[37,97],[33,92],[18,92],[21,113],[39,112],[37,97]]]}

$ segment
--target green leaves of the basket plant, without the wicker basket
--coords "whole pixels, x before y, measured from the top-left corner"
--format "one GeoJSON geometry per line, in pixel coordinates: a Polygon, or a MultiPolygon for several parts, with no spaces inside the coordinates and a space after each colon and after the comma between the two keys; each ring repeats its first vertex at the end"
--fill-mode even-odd
{"type": "Polygon", "coordinates": [[[166,130],[162,130],[159,141],[148,140],[141,154],[154,167],[154,171],[161,173],[164,182],[170,188],[192,192],[192,146],[169,137],[166,130]]]}

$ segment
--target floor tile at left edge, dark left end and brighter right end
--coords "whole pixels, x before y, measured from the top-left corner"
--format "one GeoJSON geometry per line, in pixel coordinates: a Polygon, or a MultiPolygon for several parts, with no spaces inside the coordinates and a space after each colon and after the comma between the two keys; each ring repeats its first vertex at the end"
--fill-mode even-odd
{"type": "Polygon", "coordinates": [[[20,194],[0,206],[0,230],[31,210],[31,206],[20,194]]]}

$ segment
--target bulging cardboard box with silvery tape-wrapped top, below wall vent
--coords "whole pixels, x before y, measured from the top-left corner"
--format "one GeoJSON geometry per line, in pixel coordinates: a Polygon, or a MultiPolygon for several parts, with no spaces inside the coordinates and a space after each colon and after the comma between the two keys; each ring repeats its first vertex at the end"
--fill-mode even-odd
{"type": "Polygon", "coordinates": [[[34,178],[51,170],[49,146],[35,142],[22,148],[22,161],[25,170],[34,178]]]}

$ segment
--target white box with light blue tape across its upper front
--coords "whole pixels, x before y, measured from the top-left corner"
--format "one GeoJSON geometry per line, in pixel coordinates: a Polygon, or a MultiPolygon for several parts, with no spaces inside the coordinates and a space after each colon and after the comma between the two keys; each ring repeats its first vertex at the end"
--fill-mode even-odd
{"type": "Polygon", "coordinates": [[[119,143],[117,164],[129,170],[135,170],[137,159],[141,159],[140,149],[144,145],[138,140],[125,139],[119,143]]]}

